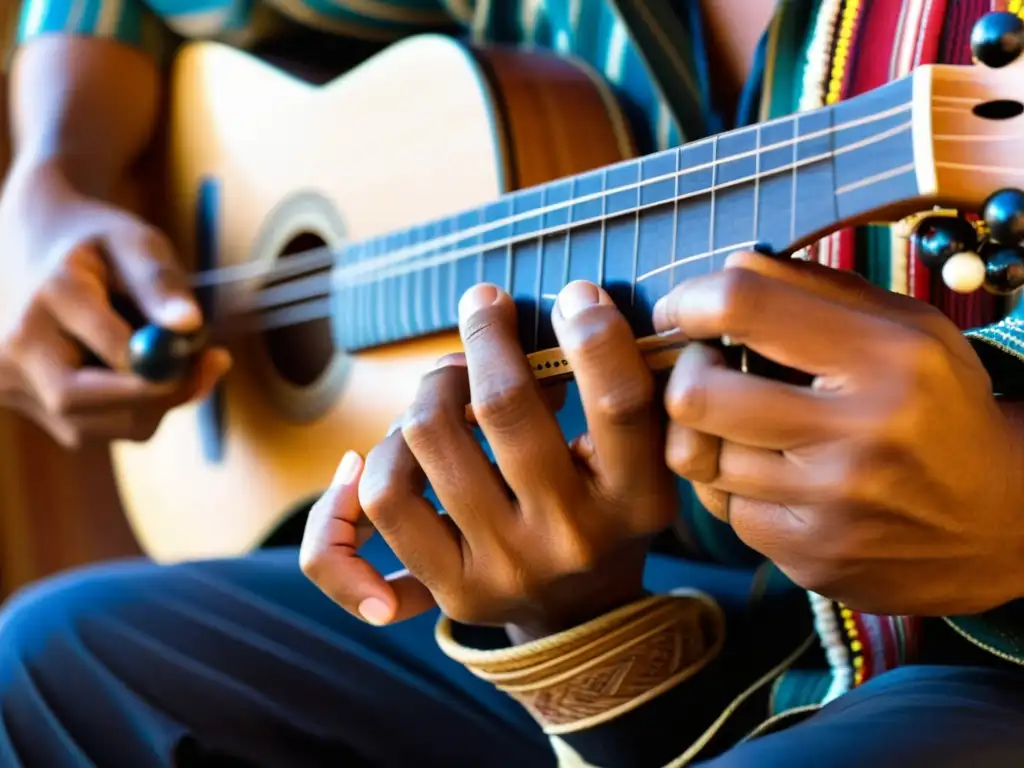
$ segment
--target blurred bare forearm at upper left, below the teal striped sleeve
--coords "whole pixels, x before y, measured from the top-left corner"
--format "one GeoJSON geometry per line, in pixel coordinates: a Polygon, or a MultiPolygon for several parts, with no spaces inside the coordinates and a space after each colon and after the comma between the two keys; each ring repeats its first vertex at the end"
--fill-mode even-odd
{"type": "Polygon", "coordinates": [[[144,52],[97,38],[39,37],[11,69],[14,168],[54,165],[79,191],[108,198],[150,144],[160,75],[144,52]]]}

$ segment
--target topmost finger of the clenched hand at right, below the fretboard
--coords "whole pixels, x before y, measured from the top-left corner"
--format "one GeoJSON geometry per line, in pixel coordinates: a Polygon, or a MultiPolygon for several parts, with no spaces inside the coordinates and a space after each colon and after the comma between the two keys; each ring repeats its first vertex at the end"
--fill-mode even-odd
{"type": "Polygon", "coordinates": [[[893,333],[883,318],[741,267],[677,286],[655,304],[654,326],[691,339],[728,337],[815,376],[848,373],[873,359],[893,333]]]}

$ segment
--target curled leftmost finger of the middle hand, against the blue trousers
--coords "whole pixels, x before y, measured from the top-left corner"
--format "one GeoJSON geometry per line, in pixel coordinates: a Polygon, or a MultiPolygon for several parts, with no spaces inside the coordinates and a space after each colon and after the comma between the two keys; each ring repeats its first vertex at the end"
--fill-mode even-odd
{"type": "Polygon", "coordinates": [[[408,571],[387,579],[358,556],[373,532],[358,500],[364,461],[348,452],[331,487],[313,505],[306,520],[299,564],[321,591],[349,613],[373,625],[386,625],[433,607],[430,592],[408,571]]]}

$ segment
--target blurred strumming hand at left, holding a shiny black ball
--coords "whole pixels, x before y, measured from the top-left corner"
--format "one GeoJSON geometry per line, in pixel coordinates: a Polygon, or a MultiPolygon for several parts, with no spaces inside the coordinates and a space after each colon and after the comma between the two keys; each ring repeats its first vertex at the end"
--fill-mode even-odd
{"type": "Polygon", "coordinates": [[[200,308],[162,232],[75,190],[52,167],[11,171],[0,197],[0,406],[67,447],[147,439],[168,410],[207,394],[230,367],[215,349],[172,384],[128,370],[132,328],[112,291],[147,322],[180,332],[201,327],[200,308]]]}

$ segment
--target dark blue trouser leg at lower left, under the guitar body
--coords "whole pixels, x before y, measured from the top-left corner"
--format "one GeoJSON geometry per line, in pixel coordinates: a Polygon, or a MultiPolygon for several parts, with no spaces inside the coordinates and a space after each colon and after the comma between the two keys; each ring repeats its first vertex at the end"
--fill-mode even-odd
{"type": "Polygon", "coordinates": [[[518,705],[440,653],[435,617],[368,627],[295,550],[58,577],[0,614],[0,766],[553,765],[518,705]]]}

